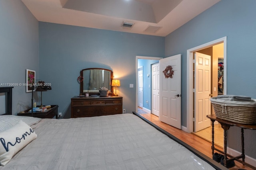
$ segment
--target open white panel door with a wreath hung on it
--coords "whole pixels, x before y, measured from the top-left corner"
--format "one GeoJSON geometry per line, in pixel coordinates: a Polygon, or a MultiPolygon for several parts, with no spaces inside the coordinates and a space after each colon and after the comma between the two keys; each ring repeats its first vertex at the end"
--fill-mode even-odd
{"type": "Polygon", "coordinates": [[[160,60],[159,120],[181,129],[181,55],[160,60]],[[163,70],[172,66],[172,78],[166,78],[163,70]]]}

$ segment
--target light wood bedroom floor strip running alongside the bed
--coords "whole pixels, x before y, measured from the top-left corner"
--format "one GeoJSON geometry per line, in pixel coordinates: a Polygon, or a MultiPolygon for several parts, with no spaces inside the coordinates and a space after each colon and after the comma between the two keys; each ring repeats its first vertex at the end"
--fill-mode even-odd
{"type": "MultiPolygon", "coordinates": [[[[143,117],[154,123],[155,125],[161,127],[168,133],[174,135],[178,139],[182,140],[186,144],[190,145],[194,149],[198,150],[199,152],[202,152],[206,156],[212,158],[212,143],[193,135],[192,133],[186,133],[185,131],[182,131],[180,129],[177,129],[175,127],[172,127],[166,123],[163,123],[159,121],[158,117],[153,114],[141,114],[143,117]]],[[[223,150],[222,148],[215,146],[217,149],[223,150]]],[[[247,166],[243,166],[239,162],[235,161],[235,166],[230,168],[230,170],[238,170],[240,168],[246,169],[246,170],[253,170],[252,168],[248,168],[247,166]]]]}

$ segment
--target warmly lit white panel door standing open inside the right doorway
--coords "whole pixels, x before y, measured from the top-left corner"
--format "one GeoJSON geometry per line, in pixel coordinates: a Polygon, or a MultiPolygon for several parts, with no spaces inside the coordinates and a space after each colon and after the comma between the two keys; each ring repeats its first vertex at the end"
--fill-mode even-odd
{"type": "Polygon", "coordinates": [[[211,125],[206,115],[211,114],[211,56],[195,53],[195,113],[194,131],[200,131],[211,125]]]}

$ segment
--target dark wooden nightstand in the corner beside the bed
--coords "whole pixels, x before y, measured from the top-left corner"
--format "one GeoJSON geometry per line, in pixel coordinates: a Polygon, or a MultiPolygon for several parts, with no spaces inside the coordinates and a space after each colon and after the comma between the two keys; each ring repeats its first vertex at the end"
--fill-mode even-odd
{"type": "Polygon", "coordinates": [[[32,117],[39,117],[39,118],[52,118],[55,116],[58,119],[58,105],[51,105],[51,108],[48,108],[46,111],[33,111],[33,115],[29,112],[30,109],[25,110],[24,113],[18,113],[18,116],[32,116],[32,117]]]}

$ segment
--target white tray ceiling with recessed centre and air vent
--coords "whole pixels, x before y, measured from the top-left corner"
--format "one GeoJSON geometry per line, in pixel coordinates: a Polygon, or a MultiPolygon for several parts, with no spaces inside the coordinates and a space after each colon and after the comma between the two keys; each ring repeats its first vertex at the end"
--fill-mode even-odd
{"type": "Polygon", "coordinates": [[[219,1],[22,0],[38,21],[163,37],[219,1]],[[123,22],[134,25],[122,27],[123,22]]]}

